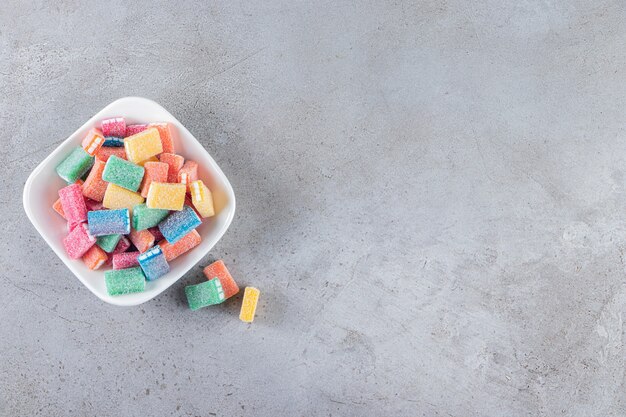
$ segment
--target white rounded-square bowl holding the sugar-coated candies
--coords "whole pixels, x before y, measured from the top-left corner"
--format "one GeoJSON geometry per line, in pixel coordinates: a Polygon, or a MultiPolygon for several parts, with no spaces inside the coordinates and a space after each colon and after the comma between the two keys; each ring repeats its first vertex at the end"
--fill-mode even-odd
{"type": "Polygon", "coordinates": [[[196,265],[224,235],[235,215],[235,193],[230,182],[198,140],[167,110],[152,100],[124,97],[100,110],[67,138],[33,170],[24,185],[24,210],[39,234],[76,277],[101,300],[119,306],[145,303],[165,291],[196,265]],[[65,220],[53,209],[59,189],[67,184],[56,174],[56,166],[77,146],[92,127],[102,119],[124,117],[126,123],[169,122],[176,153],[198,163],[199,178],[213,193],[215,216],[203,219],[196,230],[202,237],[200,245],[170,262],[170,272],[155,281],[146,282],[141,293],[110,296],[104,284],[104,270],[92,271],[81,259],[70,259],[63,247],[67,234],[65,220]]]}

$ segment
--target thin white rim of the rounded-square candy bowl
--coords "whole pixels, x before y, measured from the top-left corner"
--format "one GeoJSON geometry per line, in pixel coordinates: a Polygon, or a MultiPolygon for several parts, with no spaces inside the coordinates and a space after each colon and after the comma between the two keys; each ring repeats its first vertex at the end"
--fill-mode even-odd
{"type": "MultiPolygon", "coordinates": [[[[120,115],[120,116],[124,117],[124,115],[120,115]]],[[[174,117],[169,111],[167,111],[167,109],[165,109],[159,103],[155,102],[154,100],[150,100],[148,98],[138,97],[138,96],[121,97],[121,98],[118,98],[117,100],[114,100],[113,102],[109,103],[108,105],[103,107],[101,110],[97,111],[82,126],[80,126],[78,129],[76,129],[63,142],[59,143],[52,151],[50,151],[48,156],[46,158],[44,158],[32,170],[32,172],[28,175],[28,178],[26,179],[26,182],[24,183],[24,189],[23,189],[23,193],[22,193],[22,205],[24,207],[24,211],[26,212],[26,216],[28,217],[30,222],[35,227],[35,230],[37,231],[37,233],[39,233],[39,235],[43,238],[43,240],[46,242],[48,247],[50,249],[52,249],[52,251],[57,255],[57,257],[65,264],[65,266],[74,274],[74,276],[91,293],[93,293],[96,297],[98,297],[100,300],[104,301],[105,303],[112,304],[112,305],[117,305],[117,306],[127,306],[127,307],[137,306],[137,305],[140,305],[140,304],[143,304],[143,303],[145,303],[147,301],[152,300],[154,297],[162,294],[165,290],[167,290],[169,287],[174,285],[174,283],[176,283],[185,274],[187,274],[222,239],[222,237],[224,236],[224,234],[226,233],[226,231],[230,227],[230,224],[232,223],[232,220],[235,217],[235,212],[236,212],[236,209],[237,209],[237,201],[236,201],[236,198],[235,198],[235,192],[234,192],[234,189],[233,189],[230,181],[228,180],[228,177],[226,176],[226,174],[224,174],[224,172],[222,171],[220,166],[213,159],[213,157],[206,150],[206,148],[202,145],[202,143],[200,143],[200,141],[198,141],[198,139],[196,139],[196,137],[191,132],[189,132],[189,130],[187,130],[187,128],[180,122],[180,120],[178,120],[176,117],[174,117]],[[104,112],[110,110],[112,107],[116,107],[116,106],[118,106],[120,104],[123,104],[124,102],[131,102],[131,103],[135,103],[135,104],[139,104],[141,102],[144,102],[145,104],[149,104],[149,105],[152,105],[152,106],[157,106],[157,107],[160,108],[160,110],[162,110],[172,120],[176,121],[178,123],[178,125],[179,125],[178,128],[179,129],[182,128],[183,133],[185,133],[185,135],[180,135],[179,136],[180,140],[183,140],[182,136],[185,136],[184,140],[193,139],[194,141],[197,142],[197,144],[200,147],[202,147],[204,149],[204,151],[206,153],[206,156],[212,162],[211,168],[215,170],[215,172],[220,177],[220,181],[223,182],[223,184],[224,184],[224,192],[225,192],[225,194],[227,195],[227,198],[228,198],[229,211],[227,213],[227,216],[226,216],[226,219],[225,219],[223,225],[215,233],[214,241],[202,252],[201,255],[196,254],[196,256],[194,258],[197,258],[197,259],[195,259],[195,260],[190,259],[188,261],[189,265],[185,266],[183,268],[184,271],[182,273],[180,273],[180,275],[176,279],[172,280],[171,283],[169,283],[168,285],[163,287],[160,291],[156,292],[155,294],[153,294],[151,297],[148,297],[148,298],[145,298],[145,296],[142,297],[142,295],[146,294],[146,292],[134,293],[134,294],[126,294],[126,295],[115,296],[115,297],[109,296],[109,298],[103,298],[98,292],[96,292],[92,288],[90,288],[85,283],[85,277],[83,276],[83,274],[79,270],[74,268],[74,265],[73,265],[72,262],[76,261],[76,260],[70,259],[67,256],[67,254],[65,254],[62,250],[57,250],[57,248],[55,248],[55,246],[52,245],[52,243],[50,241],[50,238],[44,234],[43,226],[41,225],[40,220],[37,218],[37,216],[35,216],[35,214],[33,213],[33,209],[31,207],[31,203],[29,201],[29,196],[31,195],[31,189],[32,189],[33,182],[34,182],[35,178],[40,174],[41,171],[43,171],[44,169],[47,168],[47,166],[50,163],[50,160],[55,156],[55,154],[58,151],[58,149],[63,147],[64,145],[66,145],[68,143],[72,143],[73,142],[72,138],[74,136],[76,136],[81,130],[83,130],[83,129],[87,128],[87,127],[89,127],[89,128],[93,127],[94,123],[101,118],[101,116],[99,116],[101,113],[104,113],[104,112]],[[143,299],[143,298],[145,298],[145,299],[143,299]]],[[[103,279],[104,279],[104,272],[103,272],[102,275],[103,275],[103,279]]]]}

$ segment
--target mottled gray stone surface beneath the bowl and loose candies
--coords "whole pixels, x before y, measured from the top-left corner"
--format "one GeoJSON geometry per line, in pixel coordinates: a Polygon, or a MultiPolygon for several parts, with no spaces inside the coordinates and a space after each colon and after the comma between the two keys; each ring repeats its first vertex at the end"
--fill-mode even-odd
{"type": "Polygon", "coordinates": [[[0,415],[626,415],[625,23],[619,1],[3,0],[0,415]],[[186,308],[200,267],[104,304],[26,219],[28,173],[127,95],[229,176],[202,265],[261,289],[252,325],[240,298],[186,308]]]}

